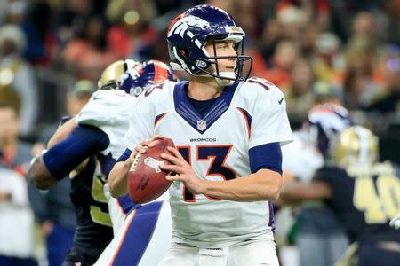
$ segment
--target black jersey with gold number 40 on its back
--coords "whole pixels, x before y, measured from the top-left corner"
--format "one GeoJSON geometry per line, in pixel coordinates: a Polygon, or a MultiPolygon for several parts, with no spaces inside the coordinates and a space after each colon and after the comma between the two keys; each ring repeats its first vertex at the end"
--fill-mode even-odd
{"type": "Polygon", "coordinates": [[[331,185],[332,207],[354,241],[400,241],[400,231],[389,226],[400,213],[400,177],[392,163],[342,169],[324,166],[314,177],[331,185]]]}

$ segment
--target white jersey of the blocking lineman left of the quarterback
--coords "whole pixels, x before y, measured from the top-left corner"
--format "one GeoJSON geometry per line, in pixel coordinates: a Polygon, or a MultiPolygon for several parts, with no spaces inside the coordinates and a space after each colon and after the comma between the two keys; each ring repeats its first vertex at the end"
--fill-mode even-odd
{"type": "MultiPolygon", "coordinates": [[[[77,124],[97,127],[108,135],[109,145],[100,152],[99,158],[102,172],[106,176],[125,151],[123,138],[129,128],[128,117],[135,103],[136,98],[124,90],[98,90],[92,94],[92,98],[76,116],[77,124]]],[[[128,196],[112,198],[107,185],[104,187],[104,192],[108,199],[108,211],[116,235],[133,203],[128,196]]]]}

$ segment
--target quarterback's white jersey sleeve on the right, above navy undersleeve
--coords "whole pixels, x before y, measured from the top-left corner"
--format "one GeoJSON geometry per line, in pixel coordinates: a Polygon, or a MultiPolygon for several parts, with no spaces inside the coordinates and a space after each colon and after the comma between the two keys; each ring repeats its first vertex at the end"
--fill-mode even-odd
{"type": "Polygon", "coordinates": [[[273,84],[268,86],[268,90],[257,90],[249,148],[273,142],[279,142],[281,145],[290,143],[292,130],[286,113],[284,94],[273,84]]]}

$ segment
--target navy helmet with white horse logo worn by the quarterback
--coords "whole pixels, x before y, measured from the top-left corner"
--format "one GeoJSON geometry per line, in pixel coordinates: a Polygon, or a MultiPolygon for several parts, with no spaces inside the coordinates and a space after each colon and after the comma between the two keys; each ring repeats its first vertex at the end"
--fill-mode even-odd
{"type": "MultiPolygon", "coordinates": [[[[246,80],[252,71],[252,57],[244,56],[244,31],[237,27],[228,12],[212,5],[196,5],[181,13],[172,21],[167,33],[168,50],[173,69],[184,69],[188,74],[212,76],[217,82],[246,80]],[[215,42],[234,41],[236,56],[219,57],[215,42]],[[212,42],[214,55],[205,50],[205,44],[212,42]],[[241,50],[241,51],[239,51],[241,50]],[[240,53],[240,55],[239,55],[240,53]],[[218,59],[236,59],[235,73],[222,73],[218,59]],[[243,75],[244,61],[249,61],[248,73],[243,75]]],[[[219,82],[220,83],[220,82],[219,82]]]]}

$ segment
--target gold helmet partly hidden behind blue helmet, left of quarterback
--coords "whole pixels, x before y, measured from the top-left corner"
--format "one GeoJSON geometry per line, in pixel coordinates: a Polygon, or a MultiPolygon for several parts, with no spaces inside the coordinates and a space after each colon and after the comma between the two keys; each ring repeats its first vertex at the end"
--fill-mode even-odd
{"type": "Polygon", "coordinates": [[[140,63],[131,60],[118,60],[111,65],[107,66],[104,69],[103,73],[101,73],[100,80],[97,82],[97,86],[99,90],[114,90],[119,89],[120,81],[125,72],[139,65],[140,63]]]}

